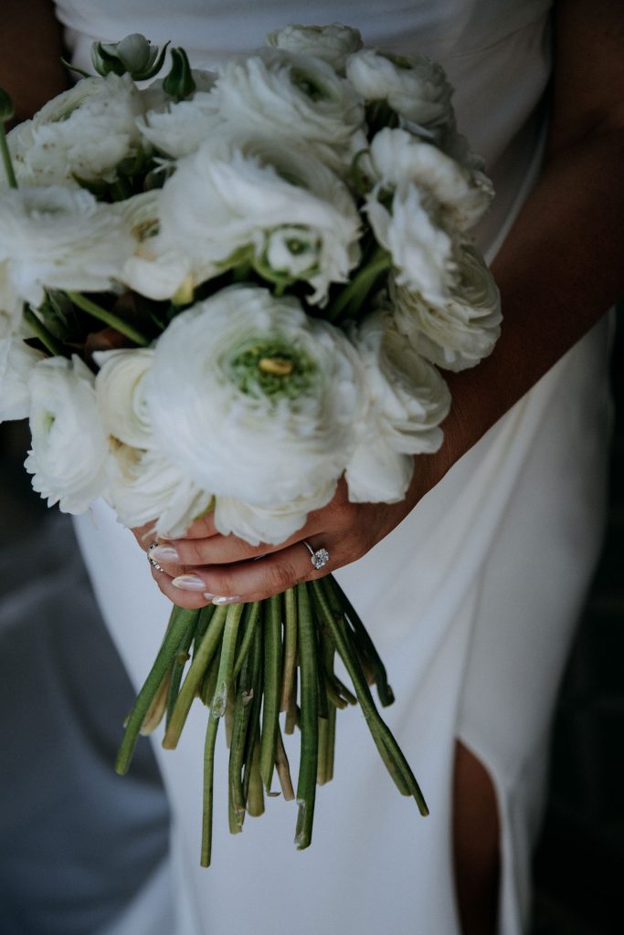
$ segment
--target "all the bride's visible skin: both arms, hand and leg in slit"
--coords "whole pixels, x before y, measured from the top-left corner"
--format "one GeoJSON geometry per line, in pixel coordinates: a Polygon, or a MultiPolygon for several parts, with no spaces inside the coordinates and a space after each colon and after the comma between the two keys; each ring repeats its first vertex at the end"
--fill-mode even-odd
{"type": "MultiPolygon", "coordinates": [[[[58,64],[60,30],[47,0],[5,0],[2,22],[0,86],[14,94],[19,121],[66,87],[58,64]]],[[[353,504],[341,483],[327,507],[311,513],[280,546],[254,549],[223,537],[210,516],[184,539],[161,540],[179,555],[161,556],[165,570],[152,570],[172,601],[197,608],[212,600],[205,593],[268,597],[366,554],[622,295],[624,7],[620,0],[561,0],[555,37],[553,122],[543,176],[493,265],[502,296],[502,337],[479,367],[449,375],[453,407],[441,450],[415,459],[403,502],[353,504]],[[303,539],[328,549],[327,568],[312,568],[303,539]],[[172,582],[182,574],[195,575],[199,590],[176,587],[172,582]]],[[[149,529],[134,532],[147,549],[149,529]]],[[[459,742],[454,804],[462,930],[493,935],[500,863],[495,792],[484,766],[459,742]]]]}

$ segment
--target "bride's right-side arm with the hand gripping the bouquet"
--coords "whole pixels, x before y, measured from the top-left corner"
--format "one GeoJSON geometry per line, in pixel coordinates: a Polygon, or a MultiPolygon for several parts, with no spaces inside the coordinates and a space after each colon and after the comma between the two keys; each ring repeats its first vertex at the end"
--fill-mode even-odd
{"type": "MultiPolygon", "coordinates": [[[[199,607],[210,600],[205,594],[256,599],[317,577],[301,539],[327,547],[325,571],[365,554],[624,293],[624,7],[595,0],[589,10],[586,0],[562,0],[555,39],[544,173],[494,264],[501,340],[479,367],[449,375],[453,408],[440,452],[416,458],[402,503],[352,504],[342,483],[278,549],[254,549],[216,534],[210,517],[198,521],[187,539],[167,543],[178,561],[159,557],[170,575],[154,571],[154,578],[167,597],[199,607]],[[182,572],[193,589],[171,583],[182,572]]],[[[136,533],[145,547],[146,530],[136,533]]]]}

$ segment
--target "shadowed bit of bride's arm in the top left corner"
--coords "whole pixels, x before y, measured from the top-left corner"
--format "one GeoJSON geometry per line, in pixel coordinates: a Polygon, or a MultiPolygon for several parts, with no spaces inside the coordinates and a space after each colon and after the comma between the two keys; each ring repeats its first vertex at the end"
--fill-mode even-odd
{"type": "Polygon", "coordinates": [[[61,26],[50,0],[3,0],[1,19],[0,88],[13,98],[17,123],[67,87],[61,26]]]}

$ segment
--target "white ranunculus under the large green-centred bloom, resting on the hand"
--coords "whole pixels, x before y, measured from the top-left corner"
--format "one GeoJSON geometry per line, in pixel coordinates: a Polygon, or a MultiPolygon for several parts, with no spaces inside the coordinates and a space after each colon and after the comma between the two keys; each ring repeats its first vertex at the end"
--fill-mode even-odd
{"type": "Polygon", "coordinates": [[[244,503],[233,496],[218,496],[214,505],[214,525],[224,536],[230,533],[252,545],[277,545],[305,525],[308,513],[324,507],[336,492],[336,482],[324,484],[311,496],[298,496],[274,507],[244,503]]]}

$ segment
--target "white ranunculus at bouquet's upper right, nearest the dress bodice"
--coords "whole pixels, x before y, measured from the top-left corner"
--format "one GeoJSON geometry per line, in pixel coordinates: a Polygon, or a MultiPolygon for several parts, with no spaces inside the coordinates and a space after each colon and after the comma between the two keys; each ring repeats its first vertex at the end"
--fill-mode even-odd
{"type": "Polygon", "coordinates": [[[453,88],[442,65],[424,55],[356,51],[347,60],[347,78],[366,101],[387,101],[402,121],[435,134],[454,122],[453,88]]]}

